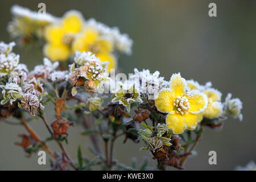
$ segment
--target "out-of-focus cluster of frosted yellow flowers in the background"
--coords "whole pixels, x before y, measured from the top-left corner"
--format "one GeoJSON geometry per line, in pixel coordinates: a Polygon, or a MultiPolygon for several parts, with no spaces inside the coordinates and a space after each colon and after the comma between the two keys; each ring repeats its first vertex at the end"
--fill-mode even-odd
{"type": "Polygon", "coordinates": [[[22,43],[45,40],[44,54],[52,61],[66,61],[75,51],[92,52],[102,62],[109,61],[110,71],[117,64],[118,52],[131,53],[133,40],[127,34],[94,19],[85,20],[79,11],[70,10],[56,18],[14,5],[11,13],[10,34],[22,43]]]}

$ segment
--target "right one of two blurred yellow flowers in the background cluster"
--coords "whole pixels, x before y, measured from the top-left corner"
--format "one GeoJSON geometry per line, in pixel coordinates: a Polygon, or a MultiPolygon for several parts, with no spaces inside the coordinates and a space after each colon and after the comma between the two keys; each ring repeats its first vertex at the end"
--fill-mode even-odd
{"type": "Polygon", "coordinates": [[[92,52],[102,62],[109,61],[108,72],[115,68],[116,60],[113,52],[111,40],[101,37],[96,30],[88,28],[80,36],[77,36],[72,44],[73,52],[92,52]]]}

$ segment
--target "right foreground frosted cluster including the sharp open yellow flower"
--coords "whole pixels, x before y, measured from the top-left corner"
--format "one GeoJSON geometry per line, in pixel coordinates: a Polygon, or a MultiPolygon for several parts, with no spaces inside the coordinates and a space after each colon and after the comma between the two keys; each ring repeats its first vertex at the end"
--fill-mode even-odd
{"type": "Polygon", "coordinates": [[[135,69],[135,75],[131,77],[139,77],[139,84],[143,86],[138,85],[138,79],[121,82],[112,102],[119,102],[130,111],[131,104],[143,102],[144,93],[147,93],[147,98],[150,94],[155,94],[152,98],[156,109],[163,115],[167,114],[166,125],[174,134],[183,133],[185,129],[195,130],[203,118],[220,120],[225,115],[232,115],[242,121],[240,99],[231,98],[229,93],[225,102],[221,102],[221,92],[212,88],[210,82],[200,85],[196,81],[185,80],[180,73],[173,74],[170,82],[158,76],[159,72],[151,75],[148,70],[138,72],[135,69]]]}

